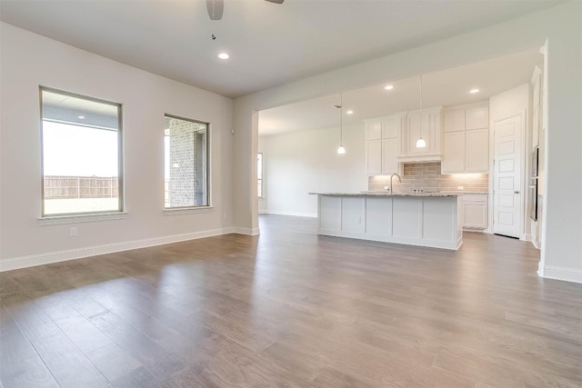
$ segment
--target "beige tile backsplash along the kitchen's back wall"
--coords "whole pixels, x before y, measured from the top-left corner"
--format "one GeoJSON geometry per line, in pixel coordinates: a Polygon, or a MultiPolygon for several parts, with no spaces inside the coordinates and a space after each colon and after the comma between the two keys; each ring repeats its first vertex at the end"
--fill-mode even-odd
{"type": "MultiPolygon", "coordinates": [[[[440,174],[440,162],[406,163],[404,164],[402,183],[393,179],[394,190],[399,192],[413,192],[422,189],[427,192],[458,191],[463,186],[466,192],[489,191],[488,174],[440,174]]],[[[382,191],[388,185],[389,176],[369,176],[367,185],[370,191],[382,191]]]]}

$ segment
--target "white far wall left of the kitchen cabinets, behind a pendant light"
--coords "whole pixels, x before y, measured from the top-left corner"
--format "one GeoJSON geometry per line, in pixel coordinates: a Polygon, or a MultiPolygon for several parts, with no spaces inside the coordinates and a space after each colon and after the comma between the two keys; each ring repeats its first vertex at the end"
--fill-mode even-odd
{"type": "MultiPolygon", "coordinates": [[[[339,127],[266,136],[268,213],[317,215],[307,193],[367,190],[364,124],[344,127],[346,154],[337,154],[339,127]]],[[[260,210],[260,209],[259,209],[260,210]]]]}

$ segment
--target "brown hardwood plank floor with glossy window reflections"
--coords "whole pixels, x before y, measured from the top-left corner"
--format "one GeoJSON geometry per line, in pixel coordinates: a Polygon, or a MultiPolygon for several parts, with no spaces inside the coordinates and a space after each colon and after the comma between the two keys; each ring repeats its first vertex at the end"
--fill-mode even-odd
{"type": "Polygon", "coordinates": [[[0,274],[3,386],[582,386],[582,284],[531,244],[261,231],[0,274]]]}

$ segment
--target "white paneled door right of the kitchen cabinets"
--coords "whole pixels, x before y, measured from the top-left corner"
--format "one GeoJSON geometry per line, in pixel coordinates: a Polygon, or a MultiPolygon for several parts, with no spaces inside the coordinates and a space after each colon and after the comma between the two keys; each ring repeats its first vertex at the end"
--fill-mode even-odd
{"type": "Polygon", "coordinates": [[[519,238],[523,115],[495,120],[494,131],[493,233],[519,238]]]}

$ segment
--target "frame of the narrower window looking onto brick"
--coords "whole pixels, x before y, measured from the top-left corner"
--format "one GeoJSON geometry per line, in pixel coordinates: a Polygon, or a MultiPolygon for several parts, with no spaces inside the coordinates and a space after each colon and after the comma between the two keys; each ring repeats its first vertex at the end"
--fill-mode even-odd
{"type": "MultiPolygon", "coordinates": [[[[206,173],[206,204],[195,204],[195,205],[190,205],[190,206],[172,206],[172,207],[166,207],[166,148],[164,148],[164,184],[162,185],[162,189],[164,192],[164,204],[163,204],[163,209],[164,209],[164,214],[165,215],[174,215],[174,214],[190,214],[190,213],[199,213],[199,212],[205,212],[209,209],[213,209],[213,205],[212,205],[212,175],[211,175],[211,168],[210,168],[210,162],[212,160],[211,157],[211,153],[212,153],[212,147],[211,147],[211,138],[212,138],[212,128],[211,128],[211,124],[207,123],[206,121],[202,121],[202,120],[196,120],[196,119],[192,119],[192,118],[188,118],[185,116],[181,116],[181,115],[176,115],[176,114],[168,114],[165,113],[164,114],[164,119],[166,118],[173,118],[176,120],[184,120],[190,123],[196,123],[196,124],[204,124],[206,125],[206,165],[205,165],[205,173],[206,173]]],[[[165,129],[164,129],[165,131],[165,129]]],[[[162,133],[164,137],[166,137],[166,134],[162,133]]],[[[169,189],[168,189],[169,192],[169,189]]]]}

